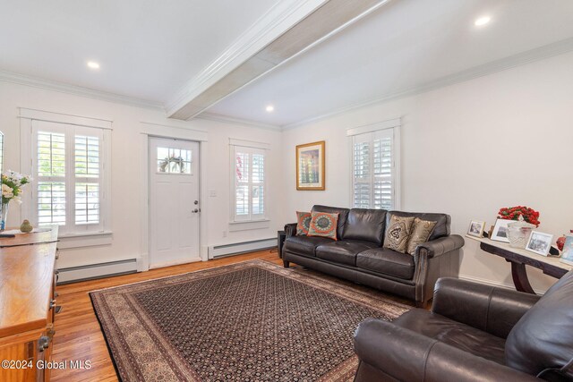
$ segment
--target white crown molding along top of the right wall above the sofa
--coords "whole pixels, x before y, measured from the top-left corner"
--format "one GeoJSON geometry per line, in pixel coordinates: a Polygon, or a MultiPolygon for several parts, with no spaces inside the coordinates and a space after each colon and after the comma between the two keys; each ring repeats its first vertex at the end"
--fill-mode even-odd
{"type": "Polygon", "coordinates": [[[435,89],[445,88],[449,85],[454,85],[459,82],[470,81],[478,77],[486,76],[488,74],[505,71],[517,66],[533,63],[535,61],[541,61],[545,58],[550,58],[555,55],[563,55],[571,51],[573,51],[573,38],[566,38],[555,43],[545,45],[543,47],[536,47],[534,49],[527,50],[526,52],[518,53],[517,55],[509,55],[508,57],[504,57],[487,64],[478,65],[462,72],[457,72],[445,77],[441,77],[438,80],[427,81],[420,86],[392,92],[379,98],[372,98],[355,105],[338,108],[330,111],[329,113],[316,115],[295,123],[288,123],[282,125],[281,130],[286,131],[295,129],[308,123],[319,122],[337,115],[353,112],[367,106],[389,102],[398,98],[415,96],[417,94],[422,94],[435,89]]]}

